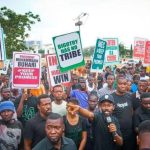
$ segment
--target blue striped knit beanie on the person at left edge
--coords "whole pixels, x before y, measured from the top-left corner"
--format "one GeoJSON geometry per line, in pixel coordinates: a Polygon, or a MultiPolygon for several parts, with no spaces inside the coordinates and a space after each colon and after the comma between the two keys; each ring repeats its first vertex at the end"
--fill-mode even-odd
{"type": "Polygon", "coordinates": [[[0,113],[4,110],[11,110],[11,111],[15,111],[15,106],[13,104],[13,102],[11,101],[4,101],[0,103],[0,113]]]}

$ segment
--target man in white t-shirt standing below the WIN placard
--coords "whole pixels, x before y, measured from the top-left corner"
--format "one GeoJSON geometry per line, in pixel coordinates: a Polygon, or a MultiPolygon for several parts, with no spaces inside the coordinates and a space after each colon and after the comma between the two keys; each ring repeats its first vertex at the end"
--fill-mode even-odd
{"type": "Polygon", "coordinates": [[[54,101],[52,102],[52,112],[58,113],[62,116],[66,115],[66,104],[67,102],[63,100],[63,87],[61,85],[56,85],[53,87],[54,101]]]}

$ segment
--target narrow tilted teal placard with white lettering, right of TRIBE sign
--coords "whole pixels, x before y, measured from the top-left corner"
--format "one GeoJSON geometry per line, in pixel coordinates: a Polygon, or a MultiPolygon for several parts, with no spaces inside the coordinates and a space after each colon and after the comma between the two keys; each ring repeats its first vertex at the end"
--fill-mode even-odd
{"type": "Polygon", "coordinates": [[[103,65],[104,65],[104,57],[105,57],[105,50],[106,50],[106,42],[97,39],[96,41],[96,47],[93,54],[93,61],[91,65],[91,71],[103,71],[103,65]]]}

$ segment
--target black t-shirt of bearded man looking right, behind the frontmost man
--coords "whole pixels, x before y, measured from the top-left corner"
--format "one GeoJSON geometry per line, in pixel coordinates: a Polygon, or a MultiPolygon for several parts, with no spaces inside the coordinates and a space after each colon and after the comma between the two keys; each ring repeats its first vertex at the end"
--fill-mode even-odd
{"type": "Polygon", "coordinates": [[[24,139],[32,140],[32,148],[45,138],[45,123],[46,120],[39,113],[26,122],[24,139]]]}

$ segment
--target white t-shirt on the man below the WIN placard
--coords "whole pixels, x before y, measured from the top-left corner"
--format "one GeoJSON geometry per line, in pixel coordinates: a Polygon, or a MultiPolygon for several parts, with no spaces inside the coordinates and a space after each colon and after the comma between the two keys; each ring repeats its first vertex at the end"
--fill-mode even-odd
{"type": "Polygon", "coordinates": [[[53,113],[58,113],[61,116],[64,116],[64,115],[66,115],[66,112],[67,112],[66,105],[67,105],[67,102],[65,102],[64,100],[59,105],[56,104],[55,101],[53,101],[52,102],[52,112],[53,113]]]}

